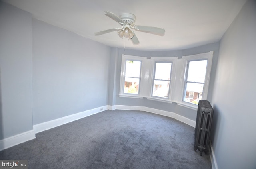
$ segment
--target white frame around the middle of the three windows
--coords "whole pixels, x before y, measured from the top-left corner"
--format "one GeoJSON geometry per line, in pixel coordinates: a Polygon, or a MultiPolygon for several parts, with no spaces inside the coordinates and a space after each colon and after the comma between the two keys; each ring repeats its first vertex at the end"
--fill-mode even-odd
{"type": "Polygon", "coordinates": [[[176,65],[176,60],[178,57],[151,57],[150,58],[150,78],[149,78],[149,90],[148,90],[148,99],[150,100],[158,100],[162,102],[169,102],[172,103],[172,91],[174,90],[174,70],[176,65]],[[168,98],[162,98],[153,96],[153,86],[154,86],[154,73],[156,69],[156,63],[172,63],[171,73],[170,73],[170,84],[169,84],[169,91],[168,91],[168,98]]]}

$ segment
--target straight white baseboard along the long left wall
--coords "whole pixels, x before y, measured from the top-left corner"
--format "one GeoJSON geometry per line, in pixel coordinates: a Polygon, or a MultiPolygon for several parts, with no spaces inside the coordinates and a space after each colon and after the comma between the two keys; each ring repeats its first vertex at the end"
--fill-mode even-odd
{"type": "Polygon", "coordinates": [[[86,110],[84,112],[80,112],[80,113],[76,113],[76,114],[72,114],[69,116],[65,116],[62,118],[57,118],[54,120],[50,120],[48,122],[43,122],[40,124],[36,124],[33,126],[34,130],[36,133],[42,132],[44,130],[48,130],[57,126],[61,126],[63,124],[69,123],[69,122],[73,122],[75,120],[78,120],[80,118],[84,118],[102,111],[108,110],[108,106],[102,106],[102,107],[98,107],[98,108],[94,108],[91,110],[86,110]]]}

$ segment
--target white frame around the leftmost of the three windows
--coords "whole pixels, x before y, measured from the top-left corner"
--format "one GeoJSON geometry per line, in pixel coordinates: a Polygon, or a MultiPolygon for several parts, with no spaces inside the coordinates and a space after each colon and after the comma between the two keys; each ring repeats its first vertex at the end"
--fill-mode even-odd
{"type": "Polygon", "coordinates": [[[120,77],[120,91],[119,96],[120,97],[130,97],[130,98],[143,98],[144,96],[144,90],[143,87],[145,84],[144,74],[144,65],[146,64],[147,58],[146,57],[138,57],[138,56],[131,56],[131,55],[122,55],[122,63],[121,63],[121,77],[120,77]],[[130,94],[130,93],[124,93],[124,80],[125,80],[125,67],[126,67],[126,61],[132,60],[132,61],[141,61],[140,66],[140,86],[139,86],[139,92],[138,94],[130,94]]]}

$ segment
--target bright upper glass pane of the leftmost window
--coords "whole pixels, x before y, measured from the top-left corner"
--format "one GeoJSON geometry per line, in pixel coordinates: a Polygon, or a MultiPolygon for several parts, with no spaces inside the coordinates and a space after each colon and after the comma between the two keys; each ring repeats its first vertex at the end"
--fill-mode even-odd
{"type": "Polygon", "coordinates": [[[141,61],[126,61],[125,77],[140,77],[141,61]]]}

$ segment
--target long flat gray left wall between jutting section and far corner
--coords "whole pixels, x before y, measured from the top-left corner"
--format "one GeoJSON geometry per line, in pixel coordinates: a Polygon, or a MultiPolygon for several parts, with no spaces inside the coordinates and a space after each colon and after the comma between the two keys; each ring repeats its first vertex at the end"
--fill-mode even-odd
{"type": "Polygon", "coordinates": [[[110,47],[32,20],[33,122],[108,104],[110,47]]]}

